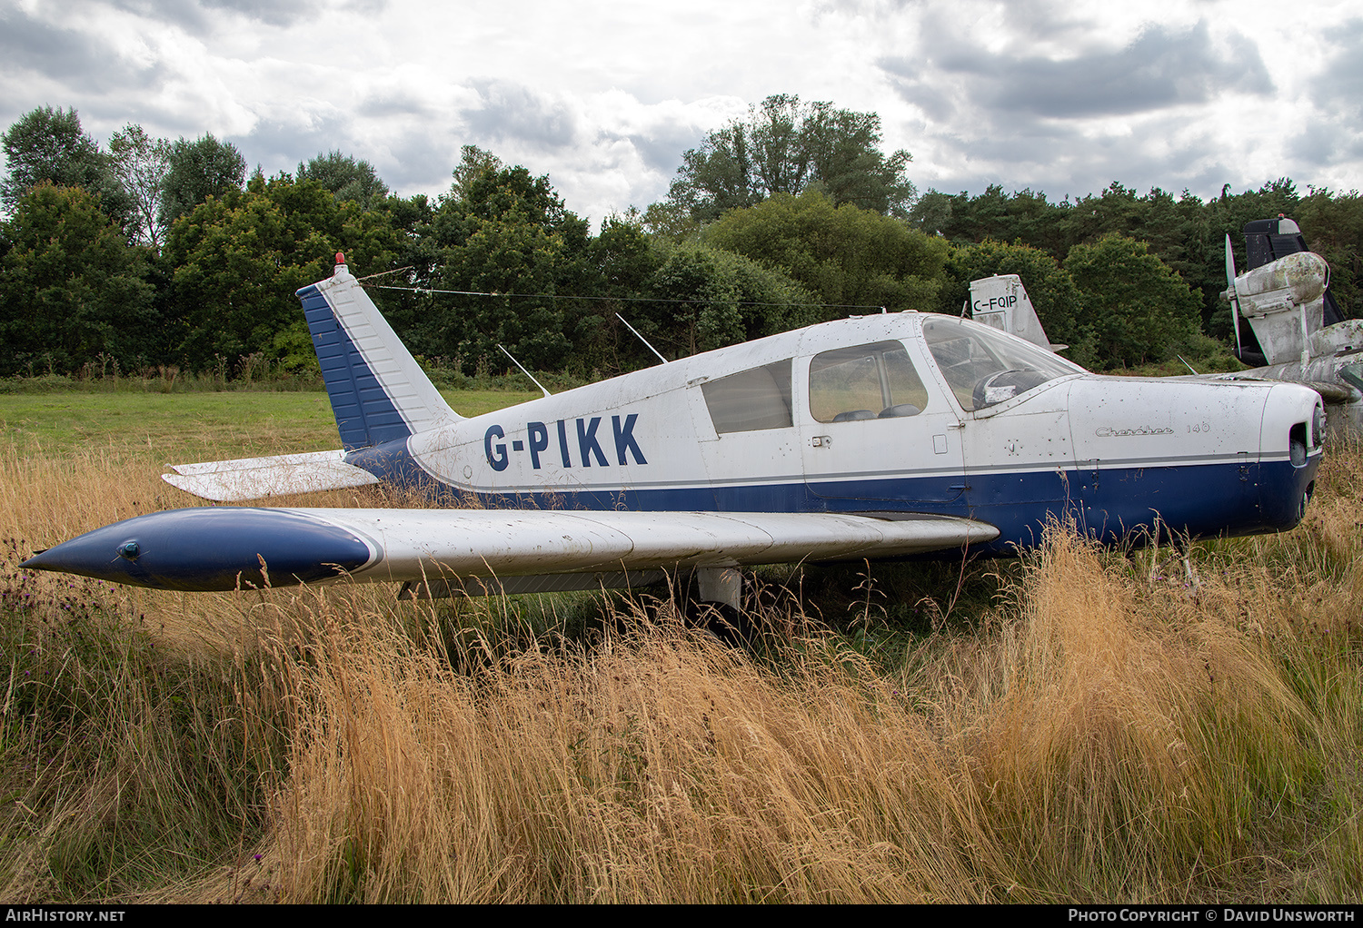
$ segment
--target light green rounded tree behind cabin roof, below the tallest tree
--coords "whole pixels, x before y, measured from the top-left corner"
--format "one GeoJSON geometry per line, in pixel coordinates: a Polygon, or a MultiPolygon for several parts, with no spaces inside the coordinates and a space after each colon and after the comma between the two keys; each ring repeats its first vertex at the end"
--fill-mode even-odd
{"type": "Polygon", "coordinates": [[[705,241],[781,270],[827,304],[822,319],[855,308],[931,308],[946,281],[946,241],[815,191],[728,213],[705,241]]]}

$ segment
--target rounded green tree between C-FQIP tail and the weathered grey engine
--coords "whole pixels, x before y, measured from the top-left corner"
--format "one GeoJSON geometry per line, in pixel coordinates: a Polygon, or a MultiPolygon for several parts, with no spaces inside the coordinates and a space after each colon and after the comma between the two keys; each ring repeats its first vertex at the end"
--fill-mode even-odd
{"type": "Polygon", "coordinates": [[[1197,294],[1144,241],[1109,234],[1075,245],[1065,270],[1101,367],[1163,361],[1198,335],[1197,294]]]}

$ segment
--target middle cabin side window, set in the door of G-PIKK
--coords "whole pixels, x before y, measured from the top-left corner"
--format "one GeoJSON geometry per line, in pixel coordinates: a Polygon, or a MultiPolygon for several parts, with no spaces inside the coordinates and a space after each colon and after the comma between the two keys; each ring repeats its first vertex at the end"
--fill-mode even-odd
{"type": "Polygon", "coordinates": [[[840,347],[810,361],[810,412],[819,422],[917,416],[927,403],[902,342],[840,347]]]}

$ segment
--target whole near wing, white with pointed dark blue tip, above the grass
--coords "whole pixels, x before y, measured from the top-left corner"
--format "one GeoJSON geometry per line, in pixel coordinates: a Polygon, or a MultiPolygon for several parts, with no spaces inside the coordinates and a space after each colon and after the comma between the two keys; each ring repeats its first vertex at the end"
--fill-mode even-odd
{"type": "MultiPolygon", "coordinates": [[[[983,545],[936,515],[210,507],[117,522],[22,566],[170,590],[605,574],[890,557],[983,545]]],[[[609,583],[608,583],[609,585],[609,583]]],[[[552,587],[545,587],[552,589],[552,587]]],[[[563,587],[559,587],[563,589],[563,587]]]]}

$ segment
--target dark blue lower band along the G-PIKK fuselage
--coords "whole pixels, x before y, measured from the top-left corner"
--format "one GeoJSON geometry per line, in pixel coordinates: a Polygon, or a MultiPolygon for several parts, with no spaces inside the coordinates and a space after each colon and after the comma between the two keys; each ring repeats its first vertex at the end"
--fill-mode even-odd
{"type": "Polygon", "coordinates": [[[346,459],[399,486],[432,492],[438,501],[485,508],[955,515],[998,527],[999,537],[987,545],[995,553],[1036,545],[1052,519],[1073,519],[1108,542],[1156,529],[1193,537],[1289,529],[1300,519],[1321,462],[1314,455],[1300,467],[1289,461],[1236,461],[968,477],[488,492],[436,481],[412,458],[406,442],[361,448],[346,459]]]}

